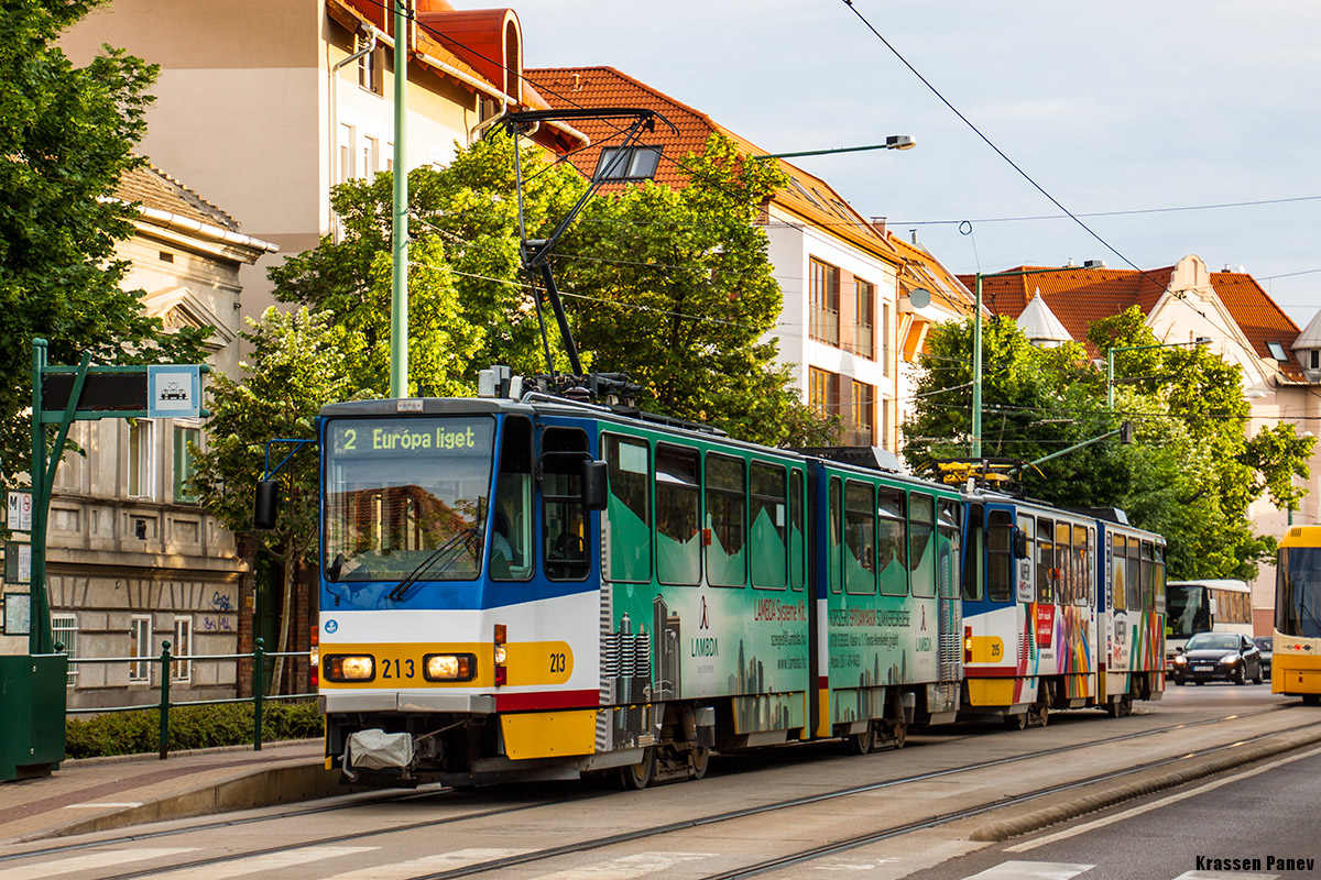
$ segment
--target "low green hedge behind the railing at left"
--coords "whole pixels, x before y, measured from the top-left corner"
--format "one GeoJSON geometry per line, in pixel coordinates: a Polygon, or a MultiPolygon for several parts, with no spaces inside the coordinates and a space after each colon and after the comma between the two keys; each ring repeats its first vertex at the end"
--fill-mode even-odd
{"type": "MultiPolygon", "coordinates": [[[[262,703],[262,741],[317,739],[321,714],[314,702],[262,703]]],[[[65,753],[69,757],[140,755],[160,752],[160,710],[106,712],[71,718],[65,723],[65,753]]],[[[169,710],[169,751],[246,745],[252,743],[252,705],[177,706],[169,710]]]]}

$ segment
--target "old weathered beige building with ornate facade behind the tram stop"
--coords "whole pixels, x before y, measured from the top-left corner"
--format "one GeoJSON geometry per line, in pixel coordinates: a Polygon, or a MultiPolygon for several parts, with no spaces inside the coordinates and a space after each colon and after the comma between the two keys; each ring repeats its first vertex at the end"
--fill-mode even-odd
{"type": "MultiPolygon", "coordinates": [[[[230,215],[155,168],[129,172],[116,195],[136,202],[133,236],[116,248],[131,264],[127,290],[166,329],[214,327],[207,364],[238,372],[239,269],[275,245],[243,235],[230,215]]],[[[48,587],[55,641],[73,657],[231,654],[243,591],[234,536],[185,487],[189,443],[205,447],[198,420],[104,418],[75,422],[57,471],[48,533],[48,587]]],[[[25,636],[3,639],[26,650],[25,636]]],[[[234,661],[173,666],[172,694],[232,697],[234,661]]],[[[71,664],[71,707],[152,703],[159,664],[71,664]]]]}

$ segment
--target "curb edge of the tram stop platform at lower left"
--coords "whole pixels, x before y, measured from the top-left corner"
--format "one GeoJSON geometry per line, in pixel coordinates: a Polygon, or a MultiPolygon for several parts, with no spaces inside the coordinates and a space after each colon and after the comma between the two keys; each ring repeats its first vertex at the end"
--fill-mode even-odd
{"type": "Polygon", "coordinates": [[[226,780],[221,784],[205,784],[177,794],[86,819],[75,819],[38,834],[26,835],[13,842],[26,843],[46,838],[111,831],[148,822],[168,822],[188,819],[214,813],[251,810],[277,803],[295,803],[317,798],[350,794],[361,788],[339,784],[339,770],[325,769],[324,760],[285,767],[269,767],[226,780]]]}

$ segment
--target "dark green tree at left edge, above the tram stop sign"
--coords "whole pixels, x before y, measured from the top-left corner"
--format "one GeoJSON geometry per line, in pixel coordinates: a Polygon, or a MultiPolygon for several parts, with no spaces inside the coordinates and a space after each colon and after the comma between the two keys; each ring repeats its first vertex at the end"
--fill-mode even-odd
{"type": "Polygon", "coordinates": [[[54,45],[98,0],[12,0],[0,17],[0,479],[30,466],[32,340],[50,361],[196,361],[209,331],[166,334],[124,292],[115,201],[145,128],[156,67],[123,51],[74,67],[54,45]]]}

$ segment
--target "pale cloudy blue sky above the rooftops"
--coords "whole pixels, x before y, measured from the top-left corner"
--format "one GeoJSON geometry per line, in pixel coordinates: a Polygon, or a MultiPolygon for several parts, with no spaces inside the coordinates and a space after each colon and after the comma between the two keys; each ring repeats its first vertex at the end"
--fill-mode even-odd
{"type": "Polygon", "coordinates": [[[511,5],[526,67],[617,67],[768,152],[914,137],[791,161],[955,272],[1196,253],[1321,309],[1321,4],[511,5]]]}

